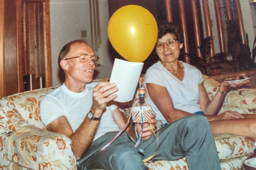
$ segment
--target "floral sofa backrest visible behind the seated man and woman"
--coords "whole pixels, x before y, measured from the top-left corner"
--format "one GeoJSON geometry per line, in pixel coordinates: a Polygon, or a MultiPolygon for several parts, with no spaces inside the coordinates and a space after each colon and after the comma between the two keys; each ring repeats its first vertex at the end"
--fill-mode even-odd
{"type": "MultiPolygon", "coordinates": [[[[145,88],[144,85],[145,75],[141,75],[141,85],[142,88],[145,88]]],[[[207,93],[212,99],[212,97],[217,92],[218,82],[210,79],[208,76],[204,76],[204,85],[207,89],[207,93]]],[[[108,82],[109,79],[94,80],[93,82],[108,82]]],[[[24,125],[30,124],[35,125],[39,128],[45,129],[45,125],[41,122],[40,116],[40,101],[41,99],[49,92],[56,89],[58,86],[37,89],[32,91],[26,91],[23,93],[15,94],[12,96],[4,97],[0,100],[0,126],[5,127],[12,132],[16,131],[16,128],[22,127],[24,125]]],[[[139,87],[137,87],[139,88],[139,87]]],[[[138,99],[138,89],[134,94],[133,100],[125,103],[118,103],[120,110],[124,114],[130,113],[130,108],[134,104],[135,107],[140,106],[140,101],[138,99]]],[[[145,90],[145,103],[149,103],[148,93],[145,90]]],[[[146,106],[147,104],[145,104],[146,106]]]]}

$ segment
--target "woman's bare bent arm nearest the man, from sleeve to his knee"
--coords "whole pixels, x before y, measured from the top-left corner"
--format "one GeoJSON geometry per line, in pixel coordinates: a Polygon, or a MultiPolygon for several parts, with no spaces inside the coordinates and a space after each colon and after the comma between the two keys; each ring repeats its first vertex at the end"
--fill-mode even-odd
{"type": "Polygon", "coordinates": [[[173,101],[165,87],[147,83],[147,90],[150,98],[168,123],[192,115],[191,113],[174,108],[173,101]]]}

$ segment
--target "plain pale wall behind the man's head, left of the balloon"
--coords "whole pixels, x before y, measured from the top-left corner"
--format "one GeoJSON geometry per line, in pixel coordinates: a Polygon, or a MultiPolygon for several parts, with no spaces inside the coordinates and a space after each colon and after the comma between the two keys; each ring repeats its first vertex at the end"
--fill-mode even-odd
{"type": "MultiPolygon", "coordinates": [[[[100,57],[95,79],[109,78],[112,70],[108,45],[108,0],[99,0],[101,46],[95,55],[100,57]]],[[[89,0],[51,0],[51,53],[53,86],[60,85],[58,56],[61,48],[70,41],[81,39],[81,30],[87,30],[83,38],[91,45],[89,0]]]]}

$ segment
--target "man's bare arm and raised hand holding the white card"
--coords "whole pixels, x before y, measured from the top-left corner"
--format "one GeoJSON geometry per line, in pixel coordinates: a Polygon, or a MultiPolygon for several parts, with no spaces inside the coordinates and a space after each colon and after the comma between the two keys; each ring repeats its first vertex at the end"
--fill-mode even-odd
{"type": "MultiPolygon", "coordinates": [[[[106,108],[106,103],[115,99],[117,95],[109,96],[118,91],[116,84],[101,82],[93,88],[93,103],[91,112],[94,117],[101,117],[106,108]]],[[[72,113],[71,113],[72,114],[72,113]]],[[[87,114],[87,113],[85,113],[87,114]]],[[[72,140],[72,147],[76,159],[79,160],[82,154],[89,148],[97,132],[100,121],[90,120],[85,117],[76,132],[73,132],[66,116],[60,116],[47,125],[52,132],[62,133],[72,140]]]]}

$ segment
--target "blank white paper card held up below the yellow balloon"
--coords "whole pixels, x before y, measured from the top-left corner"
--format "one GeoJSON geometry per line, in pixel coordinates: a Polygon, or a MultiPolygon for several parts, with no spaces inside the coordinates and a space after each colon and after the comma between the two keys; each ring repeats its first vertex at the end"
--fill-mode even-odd
{"type": "Polygon", "coordinates": [[[118,97],[114,100],[117,102],[127,102],[133,99],[144,63],[129,62],[115,59],[110,83],[116,83],[119,90],[114,93],[118,97]]]}

